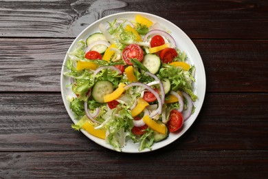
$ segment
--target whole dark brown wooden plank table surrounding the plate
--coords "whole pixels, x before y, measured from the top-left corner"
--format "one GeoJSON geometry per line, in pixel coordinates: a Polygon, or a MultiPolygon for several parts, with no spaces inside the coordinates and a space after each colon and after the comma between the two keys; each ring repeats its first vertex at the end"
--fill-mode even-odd
{"type": "Polygon", "coordinates": [[[268,1],[0,0],[0,178],[268,178],[268,1]],[[71,129],[60,70],[74,38],[116,12],[156,14],[197,46],[205,101],[175,143],[111,151],[71,129]]]}

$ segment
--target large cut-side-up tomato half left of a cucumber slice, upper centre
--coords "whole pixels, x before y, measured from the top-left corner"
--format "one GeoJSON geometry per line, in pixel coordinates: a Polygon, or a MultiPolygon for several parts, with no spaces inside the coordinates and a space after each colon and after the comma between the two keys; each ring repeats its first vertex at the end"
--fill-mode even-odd
{"type": "Polygon", "coordinates": [[[131,59],[137,59],[138,61],[142,61],[144,58],[144,51],[139,45],[131,44],[127,45],[122,52],[122,58],[124,62],[128,65],[133,65],[130,61],[131,59]]]}

